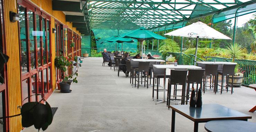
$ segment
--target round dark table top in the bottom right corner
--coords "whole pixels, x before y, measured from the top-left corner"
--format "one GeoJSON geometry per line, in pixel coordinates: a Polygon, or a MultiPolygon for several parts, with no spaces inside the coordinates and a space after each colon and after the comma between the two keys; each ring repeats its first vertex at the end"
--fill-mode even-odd
{"type": "Polygon", "coordinates": [[[256,123],[240,120],[214,120],[205,123],[207,132],[255,132],[256,123]]]}

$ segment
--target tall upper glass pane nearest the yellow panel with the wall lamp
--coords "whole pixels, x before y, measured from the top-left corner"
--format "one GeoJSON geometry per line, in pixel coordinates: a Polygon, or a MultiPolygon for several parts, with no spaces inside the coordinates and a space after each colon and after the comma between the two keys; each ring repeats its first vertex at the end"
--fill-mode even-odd
{"type": "Polygon", "coordinates": [[[19,30],[20,30],[20,54],[21,54],[21,73],[28,72],[28,51],[27,51],[27,26],[26,26],[26,10],[19,5],[19,30]]]}

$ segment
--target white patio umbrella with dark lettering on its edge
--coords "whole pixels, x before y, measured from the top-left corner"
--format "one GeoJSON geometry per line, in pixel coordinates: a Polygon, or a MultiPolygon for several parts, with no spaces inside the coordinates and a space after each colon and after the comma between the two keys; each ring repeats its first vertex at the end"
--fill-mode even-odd
{"type": "Polygon", "coordinates": [[[170,36],[180,36],[180,37],[189,37],[189,38],[196,38],[196,45],[195,45],[195,62],[196,64],[196,53],[198,47],[198,38],[204,39],[230,39],[226,35],[220,33],[219,31],[209,27],[207,24],[202,22],[192,23],[189,26],[174,30],[172,32],[166,33],[164,35],[170,36]]]}

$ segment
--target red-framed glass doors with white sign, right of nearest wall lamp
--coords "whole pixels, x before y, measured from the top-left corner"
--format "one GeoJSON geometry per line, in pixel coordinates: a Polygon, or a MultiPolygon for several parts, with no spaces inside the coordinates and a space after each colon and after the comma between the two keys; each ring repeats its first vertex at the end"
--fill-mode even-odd
{"type": "Polygon", "coordinates": [[[24,104],[41,101],[52,92],[51,21],[49,16],[23,0],[18,1],[18,11],[21,96],[24,104]]]}

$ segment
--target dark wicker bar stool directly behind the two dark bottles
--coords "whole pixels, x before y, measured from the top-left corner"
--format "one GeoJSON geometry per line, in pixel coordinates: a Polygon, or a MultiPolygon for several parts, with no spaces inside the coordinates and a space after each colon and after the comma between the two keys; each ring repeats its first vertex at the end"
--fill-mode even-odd
{"type": "Polygon", "coordinates": [[[189,75],[186,79],[186,83],[188,85],[186,90],[186,104],[188,104],[189,100],[189,88],[190,84],[192,84],[192,87],[194,87],[194,84],[196,84],[196,94],[198,92],[198,85],[200,84],[200,88],[202,88],[202,80],[204,75],[204,69],[189,69],[189,75]]]}

